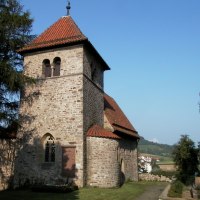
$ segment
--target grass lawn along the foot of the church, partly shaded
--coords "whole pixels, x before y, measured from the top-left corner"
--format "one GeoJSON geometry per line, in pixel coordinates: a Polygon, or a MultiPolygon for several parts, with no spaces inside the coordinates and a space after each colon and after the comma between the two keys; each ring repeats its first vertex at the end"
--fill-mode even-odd
{"type": "Polygon", "coordinates": [[[3,191],[4,200],[134,200],[156,182],[129,182],[117,189],[82,188],[72,193],[36,193],[29,190],[3,191]]]}

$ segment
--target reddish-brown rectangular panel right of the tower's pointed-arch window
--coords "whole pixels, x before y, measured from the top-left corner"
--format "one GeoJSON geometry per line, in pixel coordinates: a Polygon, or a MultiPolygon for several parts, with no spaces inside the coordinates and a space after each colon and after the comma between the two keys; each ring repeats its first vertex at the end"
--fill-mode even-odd
{"type": "Polygon", "coordinates": [[[68,178],[75,177],[75,147],[62,147],[62,174],[68,178]]]}

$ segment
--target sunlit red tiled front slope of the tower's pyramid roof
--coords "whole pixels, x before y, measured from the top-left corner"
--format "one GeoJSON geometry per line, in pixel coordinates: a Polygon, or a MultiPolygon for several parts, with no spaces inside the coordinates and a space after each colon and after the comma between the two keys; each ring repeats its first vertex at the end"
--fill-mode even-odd
{"type": "Polygon", "coordinates": [[[20,49],[19,53],[86,40],[87,37],[83,35],[74,20],[70,16],[64,16],[34,39],[29,45],[20,49]]]}

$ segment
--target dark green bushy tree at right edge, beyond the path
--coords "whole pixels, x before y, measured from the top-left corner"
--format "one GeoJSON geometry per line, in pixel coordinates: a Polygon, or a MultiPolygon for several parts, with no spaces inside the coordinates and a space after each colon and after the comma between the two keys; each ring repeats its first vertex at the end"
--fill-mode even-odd
{"type": "Polygon", "coordinates": [[[182,135],[173,150],[173,159],[177,166],[177,178],[184,184],[190,184],[198,172],[198,148],[188,135],[182,135]]]}

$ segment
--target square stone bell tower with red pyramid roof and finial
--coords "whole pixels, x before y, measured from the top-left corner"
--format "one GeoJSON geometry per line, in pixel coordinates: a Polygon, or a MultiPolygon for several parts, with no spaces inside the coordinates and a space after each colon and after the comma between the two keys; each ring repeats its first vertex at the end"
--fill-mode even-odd
{"type": "Polygon", "coordinates": [[[24,73],[36,79],[21,105],[16,184],[86,183],[86,132],[103,126],[103,73],[108,65],[69,15],[61,17],[29,45],[24,73]]]}

